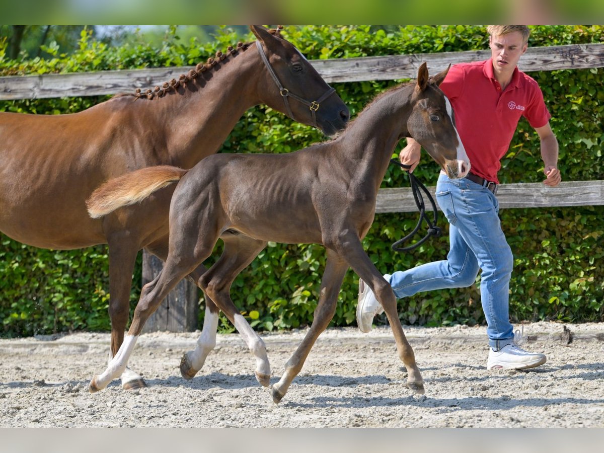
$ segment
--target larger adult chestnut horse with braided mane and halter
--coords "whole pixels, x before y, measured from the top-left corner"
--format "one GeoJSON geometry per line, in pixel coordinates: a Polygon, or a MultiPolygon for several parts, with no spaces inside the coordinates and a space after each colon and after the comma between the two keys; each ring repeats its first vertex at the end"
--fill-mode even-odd
{"type": "MultiPolygon", "coordinates": [[[[132,272],[141,248],[165,260],[173,187],[103,219],[86,198],[104,181],[152,165],[191,168],[216,153],[246,109],[264,103],[326,135],[349,111],[278,30],[251,27],[239,43],[180,79],[141,94],[118,95],[69,115],[0,113],[0,231],[42,248],[108,243],[111,353],[129,320],[132,272]]],[[[206,298],[206,310],[218,312],[206,298]]],[[[144,385],[131,370],[124,388],[144,385]]]]}

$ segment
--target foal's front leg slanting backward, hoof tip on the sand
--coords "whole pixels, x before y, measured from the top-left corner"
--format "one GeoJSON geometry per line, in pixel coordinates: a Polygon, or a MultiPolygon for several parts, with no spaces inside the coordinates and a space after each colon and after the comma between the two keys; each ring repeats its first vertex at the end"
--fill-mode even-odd
{"type": "Polygon", "coordinates": [[[280,381],[272,386],[272,400],[275,403],[281,401],[294,377],[300,373],[312,345],[315,344],[321,332],[329,326],[335,314],[339,289],[342,286],[347,269],[348,264],[339,255],[328,249],[325,271],[321,280],[319,302],[313,314],[312,325],[300,345],[298,345],[294,355],[285,364],[285,372],[280,381]]]}

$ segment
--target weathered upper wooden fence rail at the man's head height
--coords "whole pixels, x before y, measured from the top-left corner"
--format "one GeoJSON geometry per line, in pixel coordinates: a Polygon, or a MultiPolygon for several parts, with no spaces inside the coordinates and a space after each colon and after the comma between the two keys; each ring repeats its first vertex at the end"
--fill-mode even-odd
{"type": "MultiPolygon", "coordinates": [[[[486,60],[490,51],[443,52],[350,59],[312,60],[327,82],[413,79],[422,62],[430,72],[449,64],[486,60]]],[[[530,47],[521,57],[522,71],[589,69],[604,67],[604,44],[572,44],[530,47]]],[[[0,77],[0,101],[51,97],[96,96],[147,89],[185,74],[193,66],[175,68],[124,69],[121,71],[42,74],[0,77]]]]}

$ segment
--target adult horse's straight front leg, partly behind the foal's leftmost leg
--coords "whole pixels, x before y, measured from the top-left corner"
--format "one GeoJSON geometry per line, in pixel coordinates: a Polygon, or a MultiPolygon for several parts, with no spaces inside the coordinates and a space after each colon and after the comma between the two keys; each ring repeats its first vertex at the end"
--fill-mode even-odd
{"type": "MultiPolygon", "coordinates": [[[[120,233],[108,235],[109,244],[109,319],[111,320],[111,349],[109,361],[114,358],[122,342],[130,318],[130,288],[138,246],[120,233]]],[[[143,377],[130,368],[121,375],[124,390],[146,387],[143,377]]]]}

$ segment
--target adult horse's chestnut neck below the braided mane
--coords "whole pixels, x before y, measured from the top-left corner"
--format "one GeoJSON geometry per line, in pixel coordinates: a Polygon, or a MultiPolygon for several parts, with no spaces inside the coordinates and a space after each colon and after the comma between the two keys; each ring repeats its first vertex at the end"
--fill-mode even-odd
{"type": "Polygon", "coordinates": [[[243,113],[260,102],[256,87],[262,62],[253,50],[228,58],[232,61],[220,63],[219,69],[208,69],[208,74],[204,72],[195,80],[194,89],[184,88],[184,94],[180,88],[179,94],[139,100],[158,110],[173,165],[191,168],[215,153],[243,113]]]}

